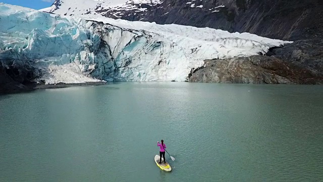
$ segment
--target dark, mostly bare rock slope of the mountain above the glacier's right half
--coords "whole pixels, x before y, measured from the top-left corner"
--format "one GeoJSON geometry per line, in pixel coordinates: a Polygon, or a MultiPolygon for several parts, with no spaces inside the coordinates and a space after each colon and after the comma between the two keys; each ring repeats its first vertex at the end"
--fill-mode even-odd
{"type": "Polygon", "coordinates": [[[157,11],[148,12],[141,21],[210,27],[229,32],[249,32],[264,37],[297,40],[323,32],[323,2],[320,0],[166,0],[157,11]],[[184,3],[183,3],[184,2],[184,3]],[[203,8],[192,8],[203,6],[203,8]],[[215,9],[216,7],[224,6],[215,9]],[[209,11],[211,9],[212,11],[209,11]],[[219,12],[213,12],[218,10],[219,12]],[[160,13],[159,13],[160,11],[160,13]],[[163,15],[169,12],[167,15],[163,15]],[[156,18],[156,15],[165,18],[156,18]]]}

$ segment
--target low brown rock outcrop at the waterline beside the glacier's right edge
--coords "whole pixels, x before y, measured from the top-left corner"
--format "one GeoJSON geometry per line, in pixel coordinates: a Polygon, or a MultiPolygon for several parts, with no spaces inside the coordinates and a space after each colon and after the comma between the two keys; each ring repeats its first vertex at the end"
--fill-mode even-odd
{"type": "Polygon", "coordinates": [[[190,82],[322,84],[323,74],[268,56],[205,60],[190,82]]]}

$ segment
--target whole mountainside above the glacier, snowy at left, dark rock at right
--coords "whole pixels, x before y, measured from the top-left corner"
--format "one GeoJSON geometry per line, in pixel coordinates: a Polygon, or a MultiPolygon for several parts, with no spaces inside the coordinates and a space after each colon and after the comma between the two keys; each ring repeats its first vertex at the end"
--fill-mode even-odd
{"type": "Polygon", "coordinates": [[[321,0],[57,0],[50,10],[61,15],[100,14],[114,19],[210,27],[230,32],[298,40],[322,37],[321,0]],[[73,3],[74,2],[74,3],[73,3]],[[93,3],[95,2],[95,3],[93,3]],[[84,8],[83,8],[84,7],[84,8]]]}

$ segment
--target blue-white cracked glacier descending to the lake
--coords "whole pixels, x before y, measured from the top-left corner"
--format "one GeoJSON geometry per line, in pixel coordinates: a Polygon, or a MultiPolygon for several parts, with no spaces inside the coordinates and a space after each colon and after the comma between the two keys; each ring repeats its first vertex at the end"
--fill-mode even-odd
{"type": "Polygon", "coordinates": [[[0,61],[29,64],[45,84],[187,81],[205,59],[265,53],[291,41],[250,33],[63,16],[0,3],[0,61]]]}

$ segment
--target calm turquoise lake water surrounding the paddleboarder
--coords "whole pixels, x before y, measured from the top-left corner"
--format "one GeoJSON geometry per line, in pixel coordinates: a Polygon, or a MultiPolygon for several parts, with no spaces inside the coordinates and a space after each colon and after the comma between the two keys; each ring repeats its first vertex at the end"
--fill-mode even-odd
{"type": "Polygon", "coordinates": [[[121,82],[0,96],[0,116],[0,181],[323,180],[322,86],[121,82]]]}

